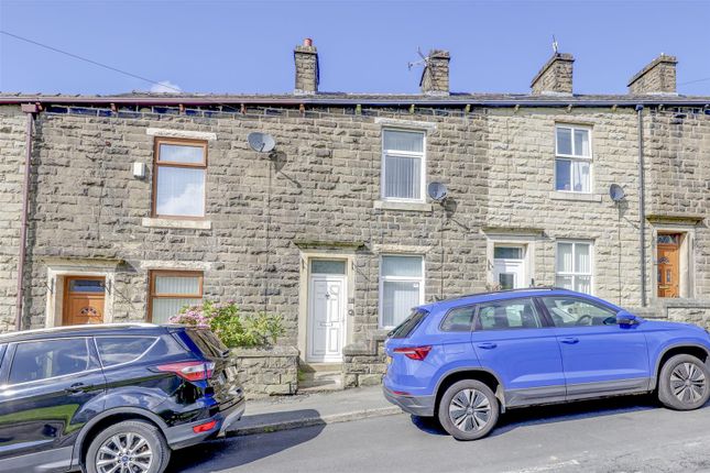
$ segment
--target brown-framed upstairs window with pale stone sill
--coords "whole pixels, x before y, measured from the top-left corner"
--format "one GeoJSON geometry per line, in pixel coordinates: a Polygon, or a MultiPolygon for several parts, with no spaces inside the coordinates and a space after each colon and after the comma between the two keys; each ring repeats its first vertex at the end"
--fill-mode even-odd
{"type": "Polygon", "coordinates": [[[155,140],[153,216],[205,217],[207,142],[155,140]]]}

